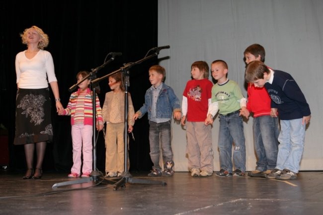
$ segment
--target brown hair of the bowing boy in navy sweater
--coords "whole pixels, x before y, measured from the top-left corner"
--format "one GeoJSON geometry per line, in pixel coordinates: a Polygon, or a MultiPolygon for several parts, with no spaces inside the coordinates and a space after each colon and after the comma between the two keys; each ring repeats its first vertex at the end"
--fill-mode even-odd
{"type": "Polygon", "coordinates": [[[250,62],[244,73],[244,78],[246,82],[253,82],[257,79],[263,79],[263,73],[266,72],[269,74],[268,67],[261,61],[252,61],[250,62]]]}

